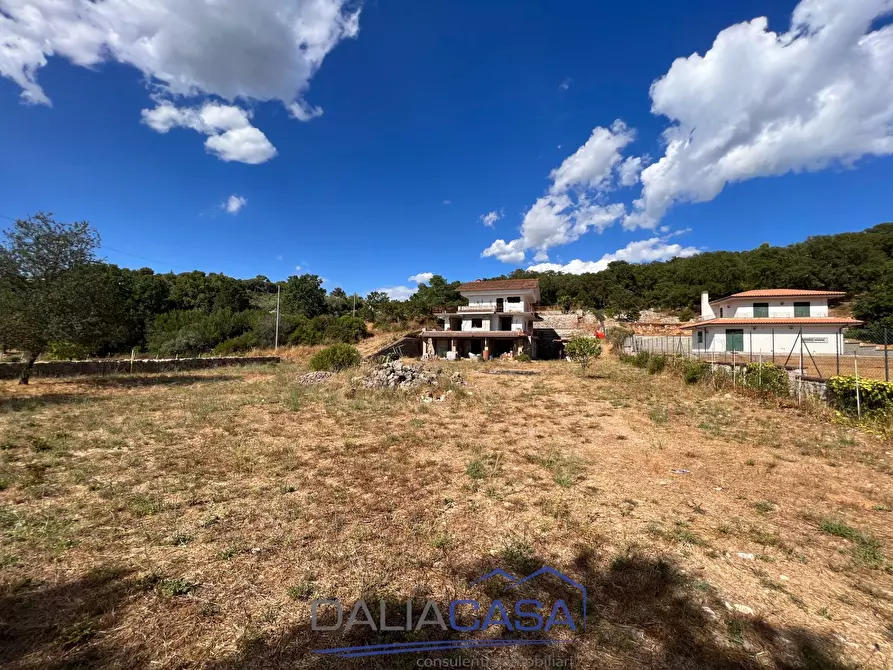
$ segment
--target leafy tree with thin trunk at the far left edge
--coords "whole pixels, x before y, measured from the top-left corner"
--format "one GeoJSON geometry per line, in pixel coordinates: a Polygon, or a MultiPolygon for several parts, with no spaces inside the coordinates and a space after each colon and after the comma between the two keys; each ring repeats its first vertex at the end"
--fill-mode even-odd
{"type": "Polygon", "coordinates": [[[18,219],[0,244],[0,342],[25,353],[20,383],[51,342],[95,351],[121,337],[124,299],[96,259],[86,221],[39,212],[18,219]]]}

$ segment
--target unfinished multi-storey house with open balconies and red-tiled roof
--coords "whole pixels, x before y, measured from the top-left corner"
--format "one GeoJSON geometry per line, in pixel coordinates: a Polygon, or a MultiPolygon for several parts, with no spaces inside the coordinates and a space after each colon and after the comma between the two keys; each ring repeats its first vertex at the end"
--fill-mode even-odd
{"type": "Polygon", "coordinates": [[[495,279],[459,286],[467,305],[442,310],[434,316],[439,330],[421,333],[422,355],[462,358],[511,352],[536,357],[533,338],[535,306],[540,299],[536,279],[495,279]]]}

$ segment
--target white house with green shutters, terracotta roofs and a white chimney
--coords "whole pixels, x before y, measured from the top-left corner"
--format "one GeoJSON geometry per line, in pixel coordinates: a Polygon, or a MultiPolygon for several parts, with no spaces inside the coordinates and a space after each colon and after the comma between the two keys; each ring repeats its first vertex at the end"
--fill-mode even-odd
{"type": "Polygon", "coordinates": [[[843,332],[861,321],[831,316],[829,301],[838,291],[760,289],[735,293],[720,300],[701,295],[701,317],[683,326],[692,331],[695,353],[812,355],[843,353],[843,332]]]}

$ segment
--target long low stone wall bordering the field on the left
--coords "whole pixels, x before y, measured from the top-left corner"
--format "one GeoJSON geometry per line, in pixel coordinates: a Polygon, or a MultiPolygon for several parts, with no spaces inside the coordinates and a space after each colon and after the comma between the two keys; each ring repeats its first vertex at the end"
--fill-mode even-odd
{"type": "MultiPolygon", "coordinates": [[[[232,356],[226,358],[180,358],[133,361],[134,374],[154,372],[181,372],[183,370],[205,370],[208,368],[232,367],[279,363],[278,356],[232,356]]],[[[0,379],[18,379],[22,372],[21,363],[0,363],[0,379]]],[[[40,361],[34,364],[32,377],[78,377],[81,375],[129,374],[129,360],[103,361],[40,361]]]]}

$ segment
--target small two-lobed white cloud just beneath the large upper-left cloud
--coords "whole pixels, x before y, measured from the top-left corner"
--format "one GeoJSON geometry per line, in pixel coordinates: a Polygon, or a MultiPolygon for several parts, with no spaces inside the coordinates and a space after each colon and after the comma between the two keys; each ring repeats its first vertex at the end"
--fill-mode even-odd
{"type": "MultiPolygon", "coordinates": [[[[0,0],[2,2],[2,0],[0,0]]],[[[251,125],[251,112],[233,105],[209,102],[200,108],[159,102],[142,111],[143,123],[159,133],[191,128],[208,136],[205,148],[224,161],[257,165],[276,156],[266,136],[251,125]]]]}

